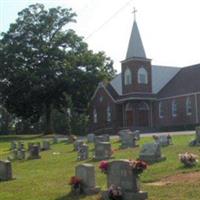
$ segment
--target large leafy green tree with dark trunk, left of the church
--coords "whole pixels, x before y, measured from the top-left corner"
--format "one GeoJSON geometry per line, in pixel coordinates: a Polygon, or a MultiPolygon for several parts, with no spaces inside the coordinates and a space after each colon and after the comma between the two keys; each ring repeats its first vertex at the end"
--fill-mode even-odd
{"type": "Polygon", "coordinates": [[[1,102],[32,122],[45,115],[46,133],[52,132],[53,109],[62,111],[71,99],[78,113],[85,112],[97,83],[115,73],[104,53],[89,51],[68,28],[75,16],[71,9],[30,5],[0,40],[1,102]]]}

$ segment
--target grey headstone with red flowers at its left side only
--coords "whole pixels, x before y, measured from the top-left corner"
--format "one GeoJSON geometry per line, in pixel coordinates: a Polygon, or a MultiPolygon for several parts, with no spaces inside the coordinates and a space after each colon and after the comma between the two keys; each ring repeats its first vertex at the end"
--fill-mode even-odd
{"type": "Polygon", "coordinates": [[[96,186],[95,168],[92,164],[81,164],[76,167],[76,176],[81,178],[81,189],[84,194],[95,194],[100,191],[96,186]]]}

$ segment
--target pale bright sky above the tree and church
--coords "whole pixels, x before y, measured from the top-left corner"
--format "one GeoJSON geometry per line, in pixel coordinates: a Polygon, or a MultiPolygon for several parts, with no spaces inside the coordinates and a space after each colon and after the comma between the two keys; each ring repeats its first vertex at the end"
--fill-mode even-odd
{"type": "Polygon", "coordinates": [[[0,32],[30,4],[62,6],[77,13],[72,24],[89,48],[105,51],[121,71],[133,24],[133,8],[143,45],[152,64],[185,67],[200,63],[199,0],[0,0],[0,32]]]}

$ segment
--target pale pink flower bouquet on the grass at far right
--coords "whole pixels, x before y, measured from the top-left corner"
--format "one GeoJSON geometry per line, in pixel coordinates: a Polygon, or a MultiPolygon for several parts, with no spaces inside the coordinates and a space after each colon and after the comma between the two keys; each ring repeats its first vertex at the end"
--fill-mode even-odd
{"type": "Polygon", "coordinates": [[[192,167],[196,165],[198,162],[197,160],[198,156],[192,153],[184,153],[184,154],[179,154],[179,159],[180,161],[186,166],[186,167],[192,167]]]}

